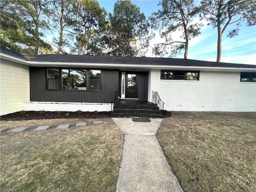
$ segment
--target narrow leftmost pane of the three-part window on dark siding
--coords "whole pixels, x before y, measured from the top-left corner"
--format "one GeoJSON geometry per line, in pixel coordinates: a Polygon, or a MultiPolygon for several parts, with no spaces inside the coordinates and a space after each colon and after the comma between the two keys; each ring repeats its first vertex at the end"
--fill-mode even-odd
{"type": "Polygon", "coordinates": [[[57,68],[47,69],[48,89],[60,89],[60,70],[57,68]]]}

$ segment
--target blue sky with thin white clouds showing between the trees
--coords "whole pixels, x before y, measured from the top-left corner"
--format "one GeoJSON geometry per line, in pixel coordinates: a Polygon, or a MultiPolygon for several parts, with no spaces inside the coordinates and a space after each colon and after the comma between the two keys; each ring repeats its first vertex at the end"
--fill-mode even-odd
{"type": "MultiPolygon", "coordinates": [[[[108,12],[113,12],[115,0],[98,0],[101,7],[104,7],[108,12]]],[[[132,0],[140,11],[148,18],[153,12],[156,12],[160,7],[158,0],[132,0]]],[[[197,4],[200,1],[195,1],[197,4]]],[[[201,29],[201,34],[189,41],[188,59],[216,61],[217,57],[217,28],[207,26],[204,22],[204,27],[201,29]]],[[[238,36],[228,38],[229,29],[233,29],[232,25],[227,28],[222,35],[222,62],[256,64],[256,26],[248,27],[244,23],[241,24],[238,36]]],[[[173,37],[179,37],[179,34],[173,34],[173,37]]],[[[164,42],[156,32],[156,36],[150,42],[150,46],[155,43],[164,42]]],[[[146,54],[148,57],[154,57],[152,49],[146,54]]],[[[184,52],[176,56],[183,58],[184,52]]]]}

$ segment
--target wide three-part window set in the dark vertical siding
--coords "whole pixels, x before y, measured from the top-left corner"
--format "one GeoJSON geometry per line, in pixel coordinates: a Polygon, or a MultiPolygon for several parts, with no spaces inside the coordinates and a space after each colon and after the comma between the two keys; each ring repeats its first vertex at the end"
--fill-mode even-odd
{"type": "Polygon", "coordinates": [[[54,90],[101,90],[101,70],[48,68],[47,88],[54,90]]]}

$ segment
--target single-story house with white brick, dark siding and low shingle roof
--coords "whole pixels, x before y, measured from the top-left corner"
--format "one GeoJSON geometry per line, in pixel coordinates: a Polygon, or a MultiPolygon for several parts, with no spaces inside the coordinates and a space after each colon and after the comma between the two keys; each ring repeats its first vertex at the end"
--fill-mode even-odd
{"type": "Polygon", "coordinates": [[[27,56],[0,48],[0,115],[21,110],[110,111],[120,99],[169,111],[256,111],[256,65],[180,58],[27,56]]]}

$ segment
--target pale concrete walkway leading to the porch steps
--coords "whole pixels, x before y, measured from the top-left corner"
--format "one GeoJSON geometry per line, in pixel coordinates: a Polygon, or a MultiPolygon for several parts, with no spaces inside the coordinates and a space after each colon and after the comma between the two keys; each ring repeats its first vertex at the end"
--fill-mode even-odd
{"type": "Polygon", "coordinates": [[[117,192],[183,192],[156,139],[162,119],[112,118],[124,133],[117,192]]]}

